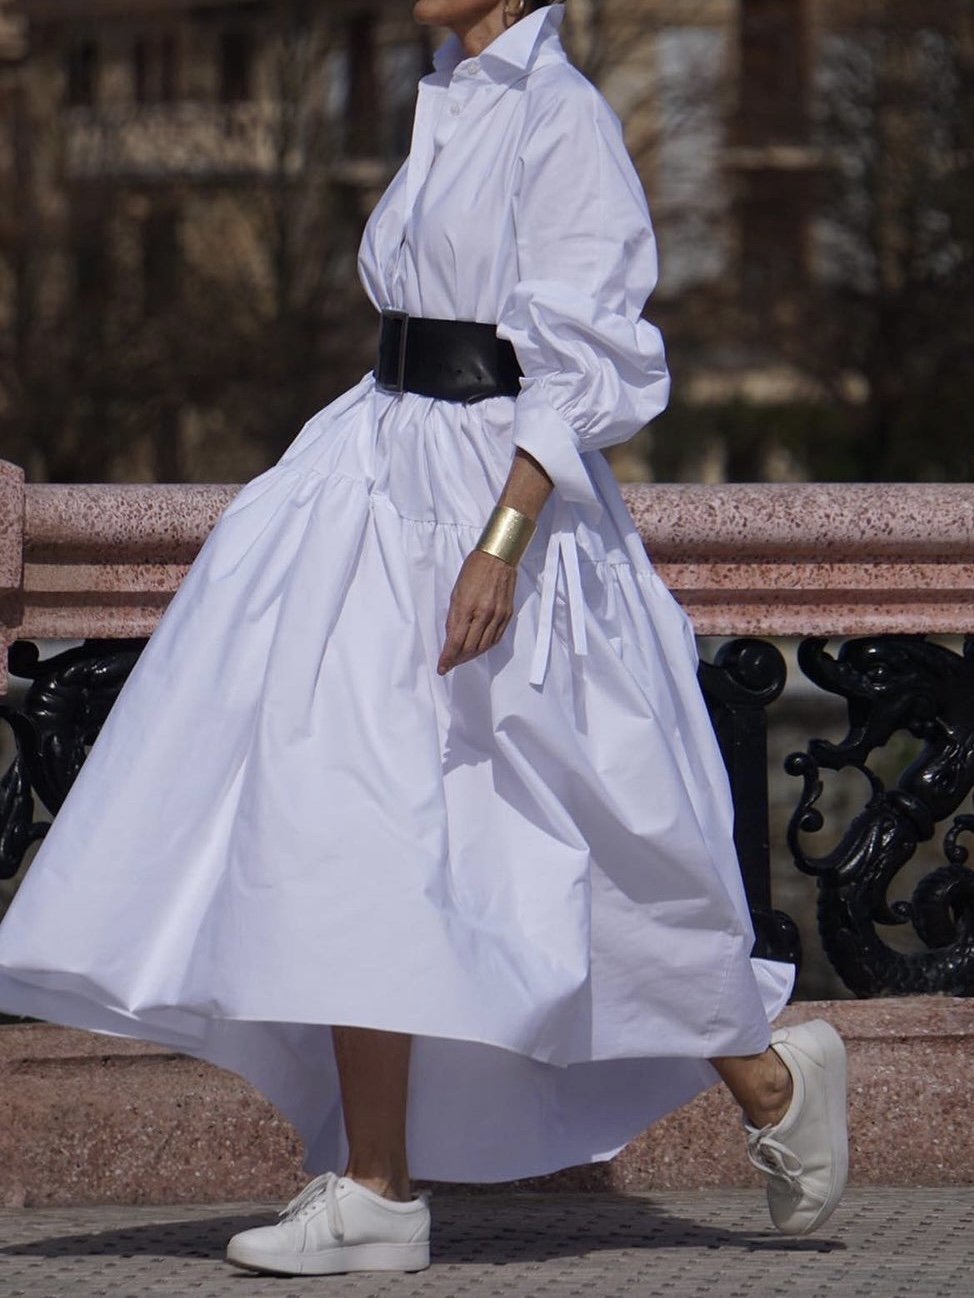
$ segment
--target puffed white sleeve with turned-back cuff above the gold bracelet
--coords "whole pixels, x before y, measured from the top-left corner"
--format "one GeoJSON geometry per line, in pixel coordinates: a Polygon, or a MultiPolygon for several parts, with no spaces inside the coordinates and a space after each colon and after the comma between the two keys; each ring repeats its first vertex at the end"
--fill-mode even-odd
{"type": "Polygon", "coordinates": [[[564,500],[596,517],[584,456],[626,441],[669,398],[662,337],[642,318],[656,287],[656,239],[618,118],[595,87],[573,75],[526,106],[513,206],[518,278],[497,323],[523,371],[514,444],[564,500]]]}

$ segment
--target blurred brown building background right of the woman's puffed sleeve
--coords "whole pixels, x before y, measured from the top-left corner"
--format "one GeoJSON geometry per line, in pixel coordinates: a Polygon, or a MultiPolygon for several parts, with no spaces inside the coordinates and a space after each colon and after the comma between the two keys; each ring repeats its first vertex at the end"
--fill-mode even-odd
{"type": "MultiPolygon", "coordinates": [[[[686,449],[712,430],[709,448],[704,437],[666,467],[964,476],[949,430],[964,398],[934,406],[970,340],[974,6],[570,9],[581,61],[626,125],[656,221],[651,313],[670,345],[674,400],[690,408],[678,430],[690,436],[675,441],[686,449]],[[926,462],[914,456],[925,437],[926,462]]],[[[655,469],[675,427],[661,422],[655,469]]]]}

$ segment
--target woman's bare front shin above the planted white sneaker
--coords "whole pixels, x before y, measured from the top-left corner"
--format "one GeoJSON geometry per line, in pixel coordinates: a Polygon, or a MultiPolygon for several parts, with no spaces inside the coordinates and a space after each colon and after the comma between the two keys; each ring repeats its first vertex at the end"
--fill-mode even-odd
{"type": "Polygon", "coordinates": [[[332,1028],[348,1134],[344,1175],[390,1199],[410,1199],[405,1125],[412,1037],[332,1028]]]}

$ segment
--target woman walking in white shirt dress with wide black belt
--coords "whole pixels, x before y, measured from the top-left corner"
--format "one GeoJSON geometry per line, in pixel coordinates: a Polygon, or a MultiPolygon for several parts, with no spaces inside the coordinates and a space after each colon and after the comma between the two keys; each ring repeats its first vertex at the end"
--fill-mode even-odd
{"type": "Polygon", "coordinates": [[[230,1241],[257,1271],[419,1269],[410,1171],[605,1159],[717,1076],[803,1233],[844,1184],[842,1042],[771,1041],[792,970],[749,958],[691,628],[599,453],[668,398],[645,200],[564,5],[414,16],[453,35],[361,245],[378,373],[208,536],[0,928],[0,1005],[278,1105],[318,1175],[230,1241]]]}

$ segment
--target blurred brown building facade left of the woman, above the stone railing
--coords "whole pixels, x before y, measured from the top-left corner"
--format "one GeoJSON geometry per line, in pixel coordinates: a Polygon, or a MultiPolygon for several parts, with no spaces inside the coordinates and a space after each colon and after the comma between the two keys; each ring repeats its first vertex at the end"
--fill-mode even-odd
{"type": "MultiPolygon", "coordinates": [[[[8,10],[27,49],[17,129],[29,136],[19,187],[31,302],[21,305],[60,322],[62,344],[65,328],[79,332],[64,357],[88,387],[77,440],[127,427],[106,470],[118,478],[212,476],[235,457],[229,476],[256,470],[284,434],[235,450],[234,430],[218,430],[219,379],[260,369],[248,347],[266,343],[265,328],[279,340],[301,312],[317,310],[297,348],[316,350],[309,365],[338,363],[352,345],[355,328],[335,331],[330,350],[308,335],[327,326],[329,305],[343,314],[361,225],[408,151],[429,35],[395,0],[19,0],[8,10]],[[147,430],[155,421],[144,437],[140,397],[147,430]]],[[[3,125],[14,129],[10,112],[3,125]]],[[[21,373],[30,369],[25,358],[21,373]]],[[[318,391],[323,400],[327,384],[318,391]]],[[[53,471],[65,472],[57,457],[53,471]]]]}

